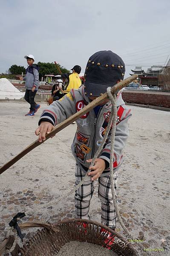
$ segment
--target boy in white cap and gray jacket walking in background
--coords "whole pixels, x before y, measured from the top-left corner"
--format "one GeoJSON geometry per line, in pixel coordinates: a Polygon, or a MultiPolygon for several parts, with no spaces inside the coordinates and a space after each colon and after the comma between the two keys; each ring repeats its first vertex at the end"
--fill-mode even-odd
{"type": "Polygon", "coordinates": [[[39,104],[36,104],[34,101],[35,95],[38,90],[39,84],[39,67],[34,63],[34,56],[29,54],[24,56],[26,58],[29,67],[26,69],[26,76],[20,78],[20,80],[26,81],[26,93],[24,99],[30,104],[30,110],[26,116],[34,116],[37,110],[40,108],[39,104]]]}

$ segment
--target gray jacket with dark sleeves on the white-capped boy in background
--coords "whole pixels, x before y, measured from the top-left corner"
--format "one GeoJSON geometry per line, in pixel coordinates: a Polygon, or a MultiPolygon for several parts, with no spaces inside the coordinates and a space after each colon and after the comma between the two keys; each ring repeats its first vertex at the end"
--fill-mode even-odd
{"type": "Polygon", "coordinates": [[[26,89],[32,90],[32,87],[35,87],[35,90],[38,90],[39,86],[39,67],[37,64],[32,64],[26,69],[26,76],[23,78],[23,81],[26,81],[26,89]]]}

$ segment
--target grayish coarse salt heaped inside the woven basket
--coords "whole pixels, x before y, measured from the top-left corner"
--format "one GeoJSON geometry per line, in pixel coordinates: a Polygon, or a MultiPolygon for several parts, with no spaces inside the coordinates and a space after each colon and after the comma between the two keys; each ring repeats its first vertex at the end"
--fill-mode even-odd
{"type": "Polygon", "coordinates": [[[87,242],[70,241],[59,251],[58,256],[117,256],[113,251],[97,244],[87,242]]]}

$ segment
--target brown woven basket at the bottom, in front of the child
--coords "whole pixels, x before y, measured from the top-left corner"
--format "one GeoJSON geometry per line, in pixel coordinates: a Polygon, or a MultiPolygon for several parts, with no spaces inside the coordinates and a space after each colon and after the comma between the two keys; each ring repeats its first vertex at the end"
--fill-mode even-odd
{"type": "Polygon", "coordinates": [[[125,244],[126,246],[122,248],[122,243],[120,241],[125,241],[124,238],[102,224],[98,224],[94,221],[87,221],[84,219],[68,219],[66,221],[61,221],[55,224],[59,232],[54,232],[53,230],[48,231],[47,229],[37,230],[37,233],[30,239],[23,248],[19,248],[19,251],[15,255],[21,256],[52,256],[58,253],[64,244],[69,241],[81,241],[89,242],[92,244],[98,244],[106,247],[104,240],[108,236],[108,232],[115,235],[115,241],[110,246],[114,253],[118,256],[137,256],[135,249],[132,245],[125,244]],[[82,223],[86,223],[86,228],[84,228],[82,223]],[[107,230],[104,234],[101,234],[101,228],[107,230]]]}

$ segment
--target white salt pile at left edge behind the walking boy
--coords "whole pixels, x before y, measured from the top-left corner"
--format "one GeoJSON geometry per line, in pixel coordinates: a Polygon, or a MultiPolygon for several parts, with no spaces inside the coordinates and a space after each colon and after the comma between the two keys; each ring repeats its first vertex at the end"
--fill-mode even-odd
{"type": "Polygon", "coordinates": [[[20,92],[14,85],[8,81],[6,78],[0,79],[0,99],[3,99],[4,96],[10,98],[10,96],[19,96],[19,98],[23,97],[24,93],[20,92]]]}

